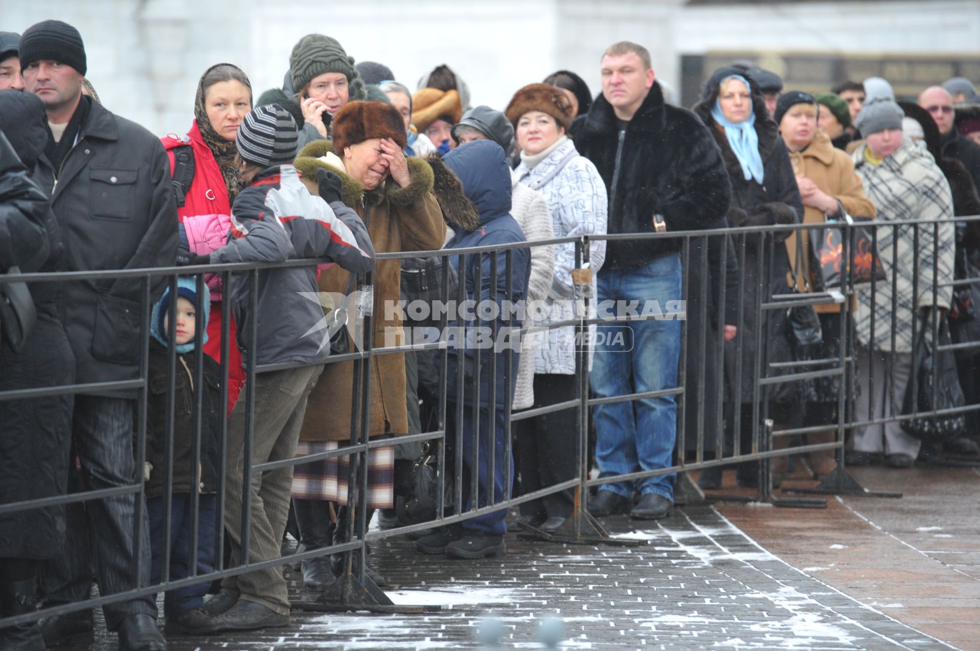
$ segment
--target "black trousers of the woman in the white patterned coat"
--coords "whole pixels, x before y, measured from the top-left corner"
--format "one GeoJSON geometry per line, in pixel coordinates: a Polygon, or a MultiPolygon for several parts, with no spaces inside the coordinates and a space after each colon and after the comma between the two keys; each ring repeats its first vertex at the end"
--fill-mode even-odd
{"type": "MultiPolygon", "coordinates": [[[[534,408],[564,402],[575,394],[574,375],[534,376],[534,408]]],[[[577,416],[577,408],[569,407],[514,423],[522,493],[555,486],[578,476],[577,416]]],[[[566,488],[523,502],[520,513],[568,518],[573,506],[574,491],[566,488]]]]}

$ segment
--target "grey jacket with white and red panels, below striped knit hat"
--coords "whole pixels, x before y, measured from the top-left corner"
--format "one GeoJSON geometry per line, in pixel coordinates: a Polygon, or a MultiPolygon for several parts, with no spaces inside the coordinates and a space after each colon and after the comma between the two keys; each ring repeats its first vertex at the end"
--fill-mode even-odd
{"type": "MultiPolygon", "coordinates": [[[[357,212],[341,202],[327,205],[311,195],[293,165],[270,167],[235,198],[229,242],[211,254],[214,262],[284,262],[332,258],[354,273],[374,268],[374,247],[357,212]]],[[[264,269],[258,282],[258,341],[252,342],[249,273],[231,277],[242,358],[258,364],[321,364],[330,354],[317,265],[264,269]]]]}

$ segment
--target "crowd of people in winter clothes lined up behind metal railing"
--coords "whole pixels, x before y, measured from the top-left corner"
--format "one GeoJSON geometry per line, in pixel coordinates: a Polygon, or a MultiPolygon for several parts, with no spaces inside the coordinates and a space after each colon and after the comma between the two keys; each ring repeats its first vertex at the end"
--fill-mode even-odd
{"type": "MultiPolygon", "coordinates": [[[[688,110],[663,92],[643,46],[615,43],[599,63],[598,94],[558,70],[519,87],[506,107],[471,106],[449,66],[413,90],[315,33],[293,48],[282,86],[258,98],[244,70],[205,70],[190,128],[160,138],[100,103],[72,25],[0,32],[0,271],[198,267],[176,278],[0,285],[0,392],[77,386],[0,400],[0,503],[107,491],[0,515],[0,618],[83,601],[93,580],[112,595],[206,575],[223,547],[225,567],[267,565],[220,589],[168,589],[164,632],[286,626],[287,584],[274,561],[287,530],[311,551],[345,541],[355,506],[368,521],[377,511],[382,527],[432,519],[431,509],[419,513],[413,479],[441,458],[439,443],[398,437],[443,428],[439,471],[450,484],[463,478],[461,503],[446,492],[447,513],[484,510],[417,535],[417,551],[504,555],[508,513],[492,506],[579,476],[577,405],[544,408],[577,395],[583,359],[601,398],[590,414],[607,480],[588,502],[595,517],[670,516],[673,475],[622,477],[670,468],[678,455],[755,451],[760,401],[781,425],[826,426],[807,435],[820,443],[833,441],[839,397],[849,394],[858,420],[879,424],[857,428],[848,463],[907,468],[934,452],[881,421],[903,413],[913,335],[929,314],[949,311],[951,329],[980,319],[963,313],[968,297],[952,285],[980,277],[980,225],[945,220],[980,214],[980,97],[970,82],[951,79],[916,102],[876,77],[811,95],[733,62],[688,110]],[[940,221],[879,227],[885,280],[858,286],[853,305],[814,306],[814,358],[853,355],[853,373],[760,385],[799,357],[789,312],[757,307],[821,290],[812,232],[785,226],[851,219],[940,221]],[[594,239],[691,231],[711,235],[594,239]],[[533,246],[567,238],[588,246],[533,246]],[[497,249],[424,253],[469,247],[497,249]],[[375,262],[403,252],[420,256],[375,262]],[[290,259],[315,261],[200,273],[290,259]],[[363,344],[353,328],[322,332],[344,307],[325,302],[355,291],[352,311],[372,315],[364,337],[373,348],[417,343],[417,329],[440,325],[384,308],[400,301],[498,302],[466,322],[450,314],[448,325],[528,336],[488,351],[465,338],[450,347],[442,381],[431,349],[330,363],[363,344]],[[575,308],[583,297],[592,298],[585,312],[575,308]],[[596,318],[604,303],[685,299],[686,319],[613,316],[603,338],[594,324],[584,340],[569,325],[596,318]],[[543,307],[525,314],[505,301],[543,307]],[[251,375],[257,365],[274,370],[251,375]],[[510,427],[509,414],[532,408],[537,415],[510,427]],[[365,503],[355,505],[350,459],[331,452],[359,428],[377,443],[368,491],[357,492],[365,503]],[[312,460],[274,463],[298,457],[312,460]],[[141,492],[122,489],[140,482],[141,492]]],[[[956,332],[972,341],[971,329],[956,332]]],[[[957,351],[971,404],[980,402],[976,343],[957,351]]],[[[978,452],[968,437],[949,444],[978,452]]],[[[833,468],[830,453],[811,459],[818,473],[833,468]]],[[[719,488],[721,473],[712,467],[699,483],[719,488]]],[[[740,463],[736,476],[755,486],[758,467],[740,463]]],[[[522,502],[517,522],[555,535],[574,507],[571,489],[552,492],[522,502]]],[[[304,587],[327,590],[339,561],[308,557],[304,587]]],[[[154,595],[103,609],[121,649],[167,648],[154,595]]],[[[91,609],[76,610],[0,629],[0,646],[34,651],[92,630],[91,609]]]]}

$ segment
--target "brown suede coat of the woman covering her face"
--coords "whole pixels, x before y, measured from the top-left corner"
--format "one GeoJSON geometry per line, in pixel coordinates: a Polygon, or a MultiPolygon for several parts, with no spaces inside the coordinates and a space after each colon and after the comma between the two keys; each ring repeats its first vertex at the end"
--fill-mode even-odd
{"type": "MultiPolygon", "coordinates": [[[[324,167],[340,175],[344,182],[344,204],[357,210],[362,218],[368,211],[368,235],[376,253],[431,251],[442,248],[446,224],[442,210],[432,195],[432,169],[428,163],[409,159],[412,183],[407,188],[399,187],[389,178],[382,187],[365,191],[360,183],[347,174],[319,161],[319,157],[332,150],[333,144],[328,140],[312,142],[300,151],[296,168],[313,194],[318,194],[317,167],[324,167]]],[[[320,273],[319,289],[321,292],[343,294],[349,277],[348,271],[334,265],[320,273]]],[[[404,345],[401,317],[390,309],[385,310],[385,304],[397,303],[400,294],[401,263],[399,260],[379,260],[374,269],[374,311],[371,322],[371,345],[374,349],[385,346],[385,332],[391,332],[391,329],[398,334],[396,341],[389,342],[388,346],[404,345]]],[[[405,355],[378,355],[373,357],[371,365],[370,436],[408,434],[405,355]]],[[[354,362],[326,364],[317,387],[310,394],[300,441],[350,439],[353,382],[354,362]]]]}

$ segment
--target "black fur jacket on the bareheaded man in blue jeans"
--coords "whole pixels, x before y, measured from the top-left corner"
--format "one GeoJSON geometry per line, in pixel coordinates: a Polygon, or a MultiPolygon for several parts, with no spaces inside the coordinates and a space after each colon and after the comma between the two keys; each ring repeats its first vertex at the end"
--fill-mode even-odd
{"type": "MultiPolygon", "coordinates": [[[[577,129],[575,147],[595,163],[610,198],[610,233],[700,230],[728,209],[728,175],[708,128],[686,109],[664,104],[660,84],[620,135],[613,106],[600,95],[577,129]]],[[[680,238],[611,241],[604,269],[645,264],[680,251],[680,238]]]]}

